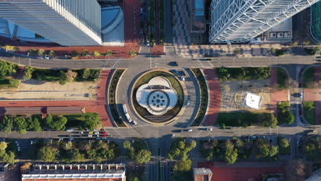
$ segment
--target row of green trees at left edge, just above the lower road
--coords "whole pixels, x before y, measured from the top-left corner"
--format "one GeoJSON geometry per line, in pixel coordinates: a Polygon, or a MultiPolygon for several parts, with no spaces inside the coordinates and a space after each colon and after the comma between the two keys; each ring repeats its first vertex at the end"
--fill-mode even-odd
{"type": "Polygon", "coordinates": [[[5,115],[0,122],[0,130],[3,132],[10,133],[12,130],[21,134],[27,133],[27,130],[36,132],[42,131],[42,126],[38,117],[25,117],[5,115]]]}

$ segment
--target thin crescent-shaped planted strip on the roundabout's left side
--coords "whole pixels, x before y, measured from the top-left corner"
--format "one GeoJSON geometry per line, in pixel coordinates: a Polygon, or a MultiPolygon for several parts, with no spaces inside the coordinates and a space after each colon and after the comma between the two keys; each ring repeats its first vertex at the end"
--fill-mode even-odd
{"type": "Polygon", "coordinates": [[[116,97],[116,87],[119,81],[119,77],[123,74],[123,69],[118,69],[115,71],[114,75],[112,76],[112,80],[110,81],[109,90],[108,90],[108,103],[110,112],[112,114],[112,118],[115,120],[115,123],[119,127],[126,127],[123,123],[123,119],[119,117],[117,105],[115,104],[115,97],[116,97]]]}

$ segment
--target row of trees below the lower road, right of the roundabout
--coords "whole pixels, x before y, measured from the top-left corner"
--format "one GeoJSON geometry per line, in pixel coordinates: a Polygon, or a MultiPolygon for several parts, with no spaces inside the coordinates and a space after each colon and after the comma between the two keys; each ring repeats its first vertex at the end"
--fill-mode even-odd
{"type": "Polygon", "coordinates": [[[236,162],[237,158],[247,159],[250,156],[255,158],[278,159],[278,148],[272,146],[270,141],[258,139],[246,141],[241,139],[230,140],[209,140],[202,141],[201,153],[206,160],[222,159],[228,164],[236,162]]]}

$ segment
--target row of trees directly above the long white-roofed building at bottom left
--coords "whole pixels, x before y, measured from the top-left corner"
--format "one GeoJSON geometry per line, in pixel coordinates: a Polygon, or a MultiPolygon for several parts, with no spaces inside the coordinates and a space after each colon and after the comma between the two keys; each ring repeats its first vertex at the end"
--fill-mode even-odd
{"type": "Polygon", "coordinates": [[[118,145],[107,141],[48,141],[36,143],[36,158],[45,162],[83,162],[91,159],[95,162],[115,158],[119,154],[118,145]]]}

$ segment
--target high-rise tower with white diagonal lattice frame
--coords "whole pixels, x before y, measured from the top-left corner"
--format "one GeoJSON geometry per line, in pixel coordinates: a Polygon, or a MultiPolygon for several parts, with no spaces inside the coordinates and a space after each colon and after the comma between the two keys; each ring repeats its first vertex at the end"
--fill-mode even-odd
{"type": "Polygon", "coordinates": [[[210,43],[246,43],[319,0],[213,0],[210,43]]]}

